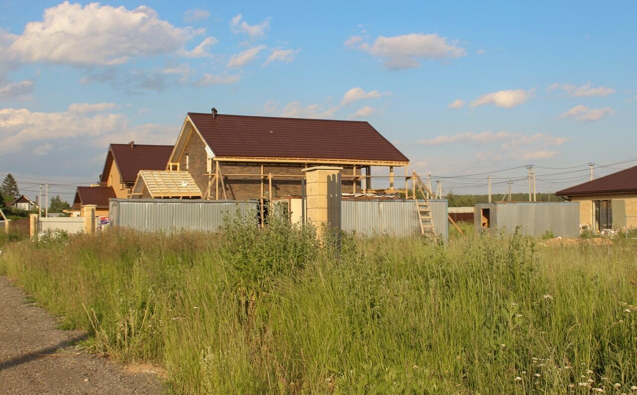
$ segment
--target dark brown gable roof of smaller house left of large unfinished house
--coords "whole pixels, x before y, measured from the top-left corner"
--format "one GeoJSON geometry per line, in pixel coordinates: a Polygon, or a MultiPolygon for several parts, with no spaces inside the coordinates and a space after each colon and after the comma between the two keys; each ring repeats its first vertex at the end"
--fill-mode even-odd
{"type": "Polygon", "coordinates": [[[172,145],[111,144],[104,163],[101,181],[106,182],[113,163],[122,174],[122,182],[135,182],[140,170],[165,170],[172,145]]]}

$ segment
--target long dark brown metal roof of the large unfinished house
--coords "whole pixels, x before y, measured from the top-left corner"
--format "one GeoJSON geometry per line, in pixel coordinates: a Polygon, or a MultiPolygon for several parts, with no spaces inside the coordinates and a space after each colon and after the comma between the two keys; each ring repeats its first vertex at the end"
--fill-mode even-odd
{"type": "Polygon", "coordinates": [[[408,162],[368,122],[188,113],[220,157],[408,162]]]}

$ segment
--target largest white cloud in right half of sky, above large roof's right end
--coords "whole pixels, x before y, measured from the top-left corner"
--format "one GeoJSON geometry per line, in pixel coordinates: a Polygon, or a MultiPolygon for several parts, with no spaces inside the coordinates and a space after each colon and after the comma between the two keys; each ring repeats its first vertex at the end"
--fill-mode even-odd
{"type": "Polygon", "coordinates": [[[345,41],[345,45],[382,57],[385,59],[385,67],[390,69],[419,67],[419,59],[449,59],[466,55],[464,48],[448,43],[447,38],[438,34],[379,36],[372,45],[362,41],[360,36],[352,36],[345,41]]]}

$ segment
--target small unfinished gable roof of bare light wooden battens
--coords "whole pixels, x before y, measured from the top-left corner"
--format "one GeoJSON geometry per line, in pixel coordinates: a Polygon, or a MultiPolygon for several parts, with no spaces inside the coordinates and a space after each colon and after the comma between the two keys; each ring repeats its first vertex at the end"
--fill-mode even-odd
{"type": "Polygon", "coordinates": [[[187,171],[141,170],[132,193],[140,196],[144,186],[152,198],[194,198],[201,197],[201,190],[187,171]]]}

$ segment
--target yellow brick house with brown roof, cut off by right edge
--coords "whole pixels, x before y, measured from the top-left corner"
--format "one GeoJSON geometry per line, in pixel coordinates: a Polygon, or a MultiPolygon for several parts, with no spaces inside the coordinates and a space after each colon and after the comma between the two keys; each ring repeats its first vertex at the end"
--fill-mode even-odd
{"type": "Polygon", "coordinates": [[[586,229],[637,227],[637,166],[555,194],[580,203],[580,224],[586,229]]]}

